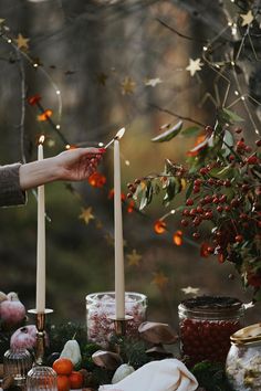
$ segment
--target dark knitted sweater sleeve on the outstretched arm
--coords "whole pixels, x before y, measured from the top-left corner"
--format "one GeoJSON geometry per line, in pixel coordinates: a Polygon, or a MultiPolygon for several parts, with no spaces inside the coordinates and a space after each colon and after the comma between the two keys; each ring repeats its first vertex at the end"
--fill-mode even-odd
{"type": "Polygon", "coordinates": [[[0,207],[23,204],[25,192],[20,188],[19,169],[21,163],[0,166],[0,207]]]}

